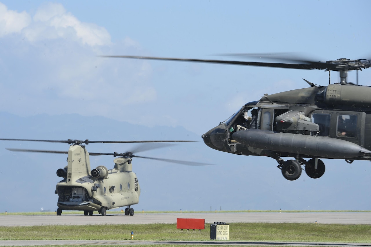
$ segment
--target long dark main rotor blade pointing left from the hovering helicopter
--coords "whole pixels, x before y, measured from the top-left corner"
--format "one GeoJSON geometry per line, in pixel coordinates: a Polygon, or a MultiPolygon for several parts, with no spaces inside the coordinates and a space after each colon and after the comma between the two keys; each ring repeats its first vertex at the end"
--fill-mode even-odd
{"type": "Polygon", "coordinates": [[[265,62],[247,62],[247,61],[232,61],[232,60],[213,60],[213,59],[189,59],[189,58],[175,58],[175,57],[145,57],[145,56],[99,56],[99,57],[116,57],[116,58],[132,58],[132,59],[147,59],[147,60],[168,60],[168,61],[182,61],[182,62],[199,62],[199,63],[221,63],[232,65],[248,65],[260,67],[277,67],[287,69],[328,69],[333,67],[331,64],[322,62],[310,62],[309,64],[295,64],[295,63],[265,63],[265,62]]]}

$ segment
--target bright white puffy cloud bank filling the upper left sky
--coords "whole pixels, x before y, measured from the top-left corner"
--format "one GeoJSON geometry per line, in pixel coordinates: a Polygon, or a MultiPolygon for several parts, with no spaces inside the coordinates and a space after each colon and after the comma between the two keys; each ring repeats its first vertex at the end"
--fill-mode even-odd
{"type": "Polygon", "coordinates": [[[0,37],[21,32],[31,42],[69,39],[92,47],[111,45],[104,27],[79,21],[62,4],[45,3],[31,19],[25,11],[17,13],[0,3],[0,37]]]}

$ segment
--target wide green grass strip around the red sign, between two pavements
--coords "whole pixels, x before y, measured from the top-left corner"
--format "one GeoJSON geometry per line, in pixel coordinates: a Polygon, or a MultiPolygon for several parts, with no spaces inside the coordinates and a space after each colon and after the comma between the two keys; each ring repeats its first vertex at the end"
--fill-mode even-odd
{"type": "MultiPolygon", "coordinates": [[[[315,223],[230,223],[234,241],[371,243],[371,225],[315,223]]],[[[176,224],[44,225],[0,227],[0,240],[210,240],[205,230],[179,230],[176,224]]]]}

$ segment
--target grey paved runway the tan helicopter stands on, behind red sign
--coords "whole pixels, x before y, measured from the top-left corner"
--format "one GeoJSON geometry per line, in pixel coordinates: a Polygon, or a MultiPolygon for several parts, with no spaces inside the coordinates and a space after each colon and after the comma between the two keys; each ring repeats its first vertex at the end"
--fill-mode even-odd
{"type": "Polygon", "coordinates": [[[207,224],[214,222],[268,222],[268,223],[322,223],[322,224],[370,224],[371,213],[177,213],[99,214],[85,216],[68,215],[0,215],[0,225],[88,225],[88,224],[150,224],[176,223],[177,218],[201,218],[207,224]]]}

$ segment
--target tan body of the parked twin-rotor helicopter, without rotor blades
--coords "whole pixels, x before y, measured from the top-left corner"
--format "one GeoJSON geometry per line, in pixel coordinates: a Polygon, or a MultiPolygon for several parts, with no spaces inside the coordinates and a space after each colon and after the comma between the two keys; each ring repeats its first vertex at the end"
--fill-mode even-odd
{"type": "MultiPolygon", "coordinates": [[[[140,187],[132,172],[131,158],[116,158],[114,168],[98,166],[90,171],[89,154],[84,146],[72,145],[68,165],[57,175],[58,209],[94,211],[138,204],[140,187]]],[[[57,212],[59,214],[59,212],[57,212]]]]}

